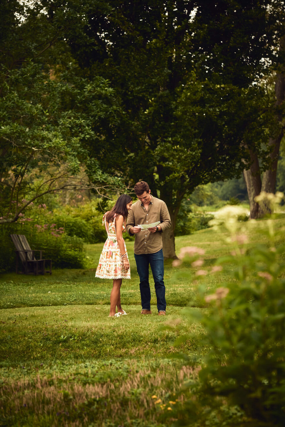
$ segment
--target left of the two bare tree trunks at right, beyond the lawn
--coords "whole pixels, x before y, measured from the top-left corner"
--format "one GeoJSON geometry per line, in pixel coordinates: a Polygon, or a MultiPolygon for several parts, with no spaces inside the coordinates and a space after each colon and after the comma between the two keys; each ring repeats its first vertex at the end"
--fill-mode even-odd
{"type": "Polygon", "coordinates": [[[261,177],[257,154],[251,149],[249,149],[249,153],[252,164],[250,165],[250,169],[244,169],[244,181],[250,201],[250,218],[256,219],[259,217],[259,204],[255,202],[254,198],[260,194],[261,177]]]}

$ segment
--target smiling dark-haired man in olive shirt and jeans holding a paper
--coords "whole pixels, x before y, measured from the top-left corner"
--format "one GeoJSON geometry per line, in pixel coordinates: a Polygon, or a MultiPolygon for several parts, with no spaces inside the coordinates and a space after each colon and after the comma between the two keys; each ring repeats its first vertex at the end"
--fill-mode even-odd
{"type": "Polygon", "coordinates": [[[157,310],[159,316],[166,314],[165,284],[163,281],[164,266],[162,253],[162,232],[171,225],[170,215],[160,199],[150,194],[147,182],[140,181],[135,184],[135,194],[138,201],[129,211],[126,230],[130,236],[135,235],[135,262],[140,278],[141,314],[151,314],[150,310],[150,283],[149,265],[153,273],[154,287],[156,290],[157,310]],[[156,227],[142,230],[141,224],[152,224],[160,221],[156,227]]]}

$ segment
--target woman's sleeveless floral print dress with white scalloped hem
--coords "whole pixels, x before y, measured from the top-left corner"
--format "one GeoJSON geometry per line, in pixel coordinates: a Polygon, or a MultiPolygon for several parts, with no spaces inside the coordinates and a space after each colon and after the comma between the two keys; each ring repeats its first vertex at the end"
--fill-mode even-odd
{"type": "MultiPolygon", "coordinates": [[[[103,215],[102,225],[104,224],[107,231],[106,213],[103,215]]],[[[123,231],[125,231],[124,226],[123,231]]],[[[129,269],[124,269],[123,260],[120,258],[120,248],[117,242],[115,218],[114,221],[109,224],[109,231],[107,231],[107,235],[108,238],[104,243],[95,277],[100,277],[101,279],[130,279],[130,271],[129,269]]],[[[126,251],[126,243],[124,240],[123,243],[126,251]]]]}

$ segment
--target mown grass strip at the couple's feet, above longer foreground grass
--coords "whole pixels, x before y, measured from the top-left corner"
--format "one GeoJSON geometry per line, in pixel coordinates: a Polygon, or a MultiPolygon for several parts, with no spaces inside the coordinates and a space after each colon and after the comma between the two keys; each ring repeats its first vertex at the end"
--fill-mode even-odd
{"type": "MultiPolygon", "coordinates": [[[[188,325],[181,307],[169,307],[167,317],[142,316],[137,306],[128,306],[127,316],[109,318],[108,306],[32,307],[1,310],[0,360],[16,366],[33,360],[86,360],[101,357],[159,356],[178,351],[176,338],[184,333],[197,338],[200,325],[188,325]],[[179,330],[174,326],[179,319],[179,330]],[[165,322],[170,329],[165,329],[165,322]]],[[[193,310],[197,310],[194,309],[193,310]]],[[[198,339],[189,339],[196,351],[198,339]]]]}

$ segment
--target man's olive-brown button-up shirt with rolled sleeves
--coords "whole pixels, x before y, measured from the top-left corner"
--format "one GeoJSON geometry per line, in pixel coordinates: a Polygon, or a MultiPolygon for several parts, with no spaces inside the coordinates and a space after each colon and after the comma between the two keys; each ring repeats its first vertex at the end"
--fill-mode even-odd
{"type": "MultiPolygon", "coordinates": [[[[165,231],[171,225],[170,215],[165,202],[151,196],[148,210],[146,210],[144,204],[138,200],[132,205],[132,209],[129,211],[126,231],[130,236],[133,236],[134,234],[130,233],[130,228],[135,227],[135,225],[152,224],[158,221],[160,221],[159,226],[162,231],[165,231]]],[[[139,233],[136,233],[135,254],[154,254],[160,251],[162,249],[162,231],[151,233],[149,230],[141,230],[139,233]]]]}

